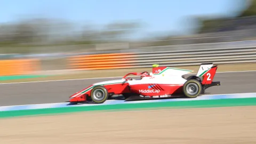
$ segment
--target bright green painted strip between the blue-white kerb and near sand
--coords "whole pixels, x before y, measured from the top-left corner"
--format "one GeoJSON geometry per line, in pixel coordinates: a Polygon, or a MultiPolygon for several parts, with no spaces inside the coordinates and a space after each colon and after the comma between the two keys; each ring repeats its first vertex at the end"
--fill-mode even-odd
{"type": "MultiPolygon", "coordinates": [[[[168,101],[168,102],[148,102],[148,103],[126,103],[117,105],[94,105],[86,107],[65,107],[46,108],[31,110],[0,111],[0,117],[17,117],[29,115],[49,115],[61,113],[74,113],[80,111],[93,110],[124,110],[138,108],[206,108],[206,107],[231,107],[231,106],[256,106],[256,98],[238,99],[217,99],[217,100],[195,100],[195,101],[168,101]]],[[[146,112],[145,112],[146,113],[146,112]]]]}

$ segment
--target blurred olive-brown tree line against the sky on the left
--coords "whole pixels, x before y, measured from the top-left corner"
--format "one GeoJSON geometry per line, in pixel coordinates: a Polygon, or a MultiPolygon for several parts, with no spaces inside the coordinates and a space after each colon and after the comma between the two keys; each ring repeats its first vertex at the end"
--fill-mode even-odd
{"type": "Polygon", "coordinates": [[[83,26],[79,30],[73,30],[71,25],[65,21],[43,18],[2,24],[0,26],[0,44],[8,46],[118,42],[124,41],[125,36],[139,27],[139,23],[136,22],[113,22],[102,29],[83,26]]]}

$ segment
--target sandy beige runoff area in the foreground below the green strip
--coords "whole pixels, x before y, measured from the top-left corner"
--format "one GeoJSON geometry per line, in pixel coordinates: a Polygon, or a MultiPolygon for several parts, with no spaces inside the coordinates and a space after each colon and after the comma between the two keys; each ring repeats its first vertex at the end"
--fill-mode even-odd
{"type": "Polygon", "coordinates": [[[0,143],[256,143],[256,107],[83,112],[0,119],[0,143]]]}

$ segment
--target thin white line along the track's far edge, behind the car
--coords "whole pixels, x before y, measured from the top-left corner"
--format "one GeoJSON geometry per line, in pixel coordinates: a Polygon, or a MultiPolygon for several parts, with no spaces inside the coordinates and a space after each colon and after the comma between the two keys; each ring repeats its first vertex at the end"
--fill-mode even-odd
{"type": "MultiPolygon", "coordinates": [[[[254,72],[256,70],[244,70],[244,71],[219,71],[217,73],[245,73],[245,72],[254,72]]],[[[190,73],[187,75],[196,74],[190,73]]],[[[50,81],[31,81],[31,82],[14,82],[14,83],[0,83],[0,84],[20,84],[20,83],[40,83],[40,82],[58,82],[58,81],[79,81],[79,80],[86,80],[86,79],[108,79],[108,78],[122,78],[123,76],[119,77],[94,77],[94,78],[77,78],[77,79],[58,79],[58,80],[50,80],[50,81]]],[[[138,77],[138,76],[130,76],[130,77],[138,77]]]]}

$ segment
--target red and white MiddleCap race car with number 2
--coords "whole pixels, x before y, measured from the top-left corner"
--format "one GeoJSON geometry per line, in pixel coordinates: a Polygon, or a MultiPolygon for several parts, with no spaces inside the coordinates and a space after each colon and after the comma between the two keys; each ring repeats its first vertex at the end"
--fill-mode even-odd
{"type": "Polygon", "coordinates": [[[123,95],[125,99],[132,95],[144,98],[166,98],[181,95],[196,98],[204,94],[211,86],[220,85],[213,82],[218,66],[202,63],[196,75],[185,78],[193,70],[153,65],[152,72],[128,73],[122,79],[94,83],[69,97],[69,102],[93,101],[103,103],[113,95],[123,95]],[[127,77],[140,76],[140,79],[127,77]]]}

